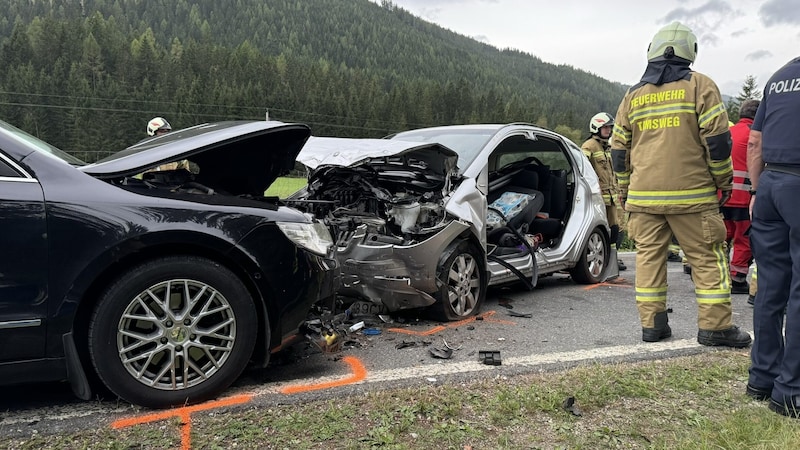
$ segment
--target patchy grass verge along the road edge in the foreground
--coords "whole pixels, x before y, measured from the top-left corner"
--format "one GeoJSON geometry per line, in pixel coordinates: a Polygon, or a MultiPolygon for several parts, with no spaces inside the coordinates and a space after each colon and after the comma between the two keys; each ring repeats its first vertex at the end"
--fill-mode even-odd
{"type": "MultiPolygon", "coordinates": [[[[749,353],[423,385],[197,414],[196,449],[788,449],[800,421],[744,394],[749,353]],[[573,397],[574,406],[565,408],[573,397]],[[577,415],[577,414],[579,415],[577,415]]],[[[173,419],[175,422],[175,419],[173,419]]],[[[14,439],[8,448],[180,448],[176,423],[14,439]]]]}

